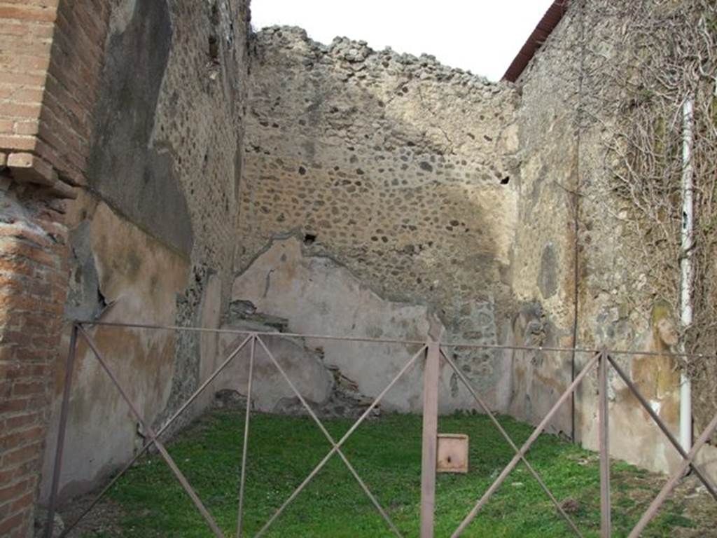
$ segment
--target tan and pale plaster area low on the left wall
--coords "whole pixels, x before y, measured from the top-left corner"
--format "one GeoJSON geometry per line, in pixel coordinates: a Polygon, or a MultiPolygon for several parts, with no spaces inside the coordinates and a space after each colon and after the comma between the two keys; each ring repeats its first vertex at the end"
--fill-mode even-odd
{"type": "MultiPolygon", "coordinates": [[[[100,320],[173,324],[176,294],[184,289],[189,273],[187,260],[118,217],[105,204],[98,204],[88,219],[99,291],[108,304],[100,320]]],[[[114,327],[95,327],[88,332],[138,410],[151,422],[163,410],[171,388],[174,333],[114,327]]],[[[68,346],[69,326],[63,349],[68,346]]],[[[57,379],[64,374],[63,357],[57,379]]],[[[62,383],[56,386],[44,476],[51,476],[57,436],[62,383]]],[[[86,491],[127,461],[138,443],[141,438],[136,419],[92,351],[80,340],[62,462],[62,496],[86,491]]],[[[48,489],[49,481],[44,481],[43,497],[48,489]]]]}

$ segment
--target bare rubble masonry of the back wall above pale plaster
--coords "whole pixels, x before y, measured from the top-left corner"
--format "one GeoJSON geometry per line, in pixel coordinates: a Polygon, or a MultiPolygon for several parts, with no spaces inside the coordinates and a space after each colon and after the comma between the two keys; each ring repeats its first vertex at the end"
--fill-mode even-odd
{"type": "MultiPolygon", "coordinates": [[[[257,256],[295,236],[303,260],[330,258],[377,296],[427,307],[446,340],[502,341],[517,222],[517,104],[510,85],[429,56],[344,38],[327,46],[297,28],[262,30],[252,44],[237,279],[252,263],[270,278],[277,268],[257,269],[265,263],[257,256]]],[[[248,299],[239,289],[233,298],[248,299]]],[[[262,308],[285,316],[292,301],[306,301],[282,299],[262,308]]],[[[315,328],[340,329],[326,311],[307,307],[304,316],[315,328]]],[[[501,395],[493,404],[504,409],[505,391],[495,389],[506,379],[502,355],[462,349],[455,359],[501,395]]],[[[374,392],[369,373],[356,374],[374,392]]],[[[450,384],[458,397],[457,378],[450,384]]]]}

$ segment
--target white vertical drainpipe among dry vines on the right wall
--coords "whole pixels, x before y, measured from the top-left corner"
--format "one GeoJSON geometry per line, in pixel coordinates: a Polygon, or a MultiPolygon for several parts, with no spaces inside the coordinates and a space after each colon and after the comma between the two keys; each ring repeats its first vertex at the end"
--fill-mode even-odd
{"type": "MultiPolygon", "coordinates": [[[[693,247],[693,98],[683,105],[682,144],[682,270],[680,280],[680,323],[683,329],[692,325],[692,247],[693,247]]],[[[684,344],[682,344],[684,349],[684,344]]],[[[692,448],[692,382],[686,370],[680,373],[680,444],[685,451],[692,448]]]]}

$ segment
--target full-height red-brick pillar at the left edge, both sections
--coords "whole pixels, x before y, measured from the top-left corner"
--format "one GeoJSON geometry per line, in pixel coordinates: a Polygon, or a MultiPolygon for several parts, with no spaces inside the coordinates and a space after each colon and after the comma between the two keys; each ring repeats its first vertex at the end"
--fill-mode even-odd
{"type": "Polygon", "coordinates": [[[32,535],[110,0],[0,0],[0,536],[32,535]]]}

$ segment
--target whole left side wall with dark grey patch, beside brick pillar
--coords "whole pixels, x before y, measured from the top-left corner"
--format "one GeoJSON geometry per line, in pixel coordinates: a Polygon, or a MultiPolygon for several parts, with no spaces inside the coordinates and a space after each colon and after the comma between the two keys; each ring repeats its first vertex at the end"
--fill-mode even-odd
{"type": "MultiPolygon", "coordinates": [[[[87,187],[67,206],[66,321],[219,326],[231,291],[247,4],[113,1],[87,187]]],[[[90,334],[151,423],[186,400],[216,355],[212,336],[100,326],[90,334]]],[[[69,326],[63,349],[67,336],[69,326]]],[[[127,461],[143,435],[91,353],[80,343],[63,497],[87,491],[127,461]]],[[[56,372],[43,496],[63,378],[64,360],[56,372]]]]}

